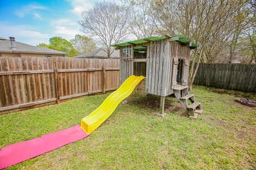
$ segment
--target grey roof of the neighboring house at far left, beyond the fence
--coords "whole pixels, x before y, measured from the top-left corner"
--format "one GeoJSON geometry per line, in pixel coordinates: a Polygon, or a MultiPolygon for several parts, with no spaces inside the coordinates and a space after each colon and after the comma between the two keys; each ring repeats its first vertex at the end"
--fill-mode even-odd
{"type": "Polygon", "coordinates": [[[2,53],[36,53],[36,54],[61,54],[66,55],[68,53],[59,52],[54,49],[45,47],[31,46],[25,43],[15,41],[16,49],[12,50],[11,41],[9,39],[0,37],[0,52],[2,53]]]}

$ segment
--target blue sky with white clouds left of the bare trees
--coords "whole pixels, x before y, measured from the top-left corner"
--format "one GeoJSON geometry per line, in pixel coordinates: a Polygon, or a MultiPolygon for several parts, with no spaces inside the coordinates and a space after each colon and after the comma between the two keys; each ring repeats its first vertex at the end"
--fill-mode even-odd
{"type": "Polygon", "coordinates": [[[0,0],[0,37],[38,45],[60,36],[70,40],[83,34],[81,11],[102,0],[0,0]]]}

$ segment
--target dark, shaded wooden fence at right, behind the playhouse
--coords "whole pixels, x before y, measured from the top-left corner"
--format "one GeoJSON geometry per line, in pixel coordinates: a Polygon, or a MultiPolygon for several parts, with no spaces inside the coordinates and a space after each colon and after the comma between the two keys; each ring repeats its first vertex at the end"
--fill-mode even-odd
{"type": "Polygon", "coordinates": [[[256,92],[256,65],[199,64],[194,84],[256,92]]]}

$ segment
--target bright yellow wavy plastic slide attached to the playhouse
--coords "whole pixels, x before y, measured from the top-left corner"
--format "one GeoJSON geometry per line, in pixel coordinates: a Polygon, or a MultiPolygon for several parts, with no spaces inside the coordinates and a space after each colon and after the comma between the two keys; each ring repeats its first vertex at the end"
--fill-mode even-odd
{"type": "Polygon", "coordinates": [[[81,128],[87,133],[92,133],[97,129],[116,109],[119,103],[130,96],[137,84],[143,80],[143,76],[131,75],[113,93],[111,93],[103,103],[90,115],[81,121],[81,128]]]}

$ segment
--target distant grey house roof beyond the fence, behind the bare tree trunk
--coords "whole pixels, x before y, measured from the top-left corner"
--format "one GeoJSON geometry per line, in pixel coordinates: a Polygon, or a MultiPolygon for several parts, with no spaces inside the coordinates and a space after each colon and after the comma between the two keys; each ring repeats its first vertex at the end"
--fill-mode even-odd
{"type": "MultiPolygon", "coordinates": [[[[110,58],[119,58],[119,50],[114,50],[114,52],[110,55],[110,58]]],[[[78,56],[75,56],[76,58],[107,58],[107,53],[102,49],[93,49],[91,52],[84,53],[78,56]]]]}

